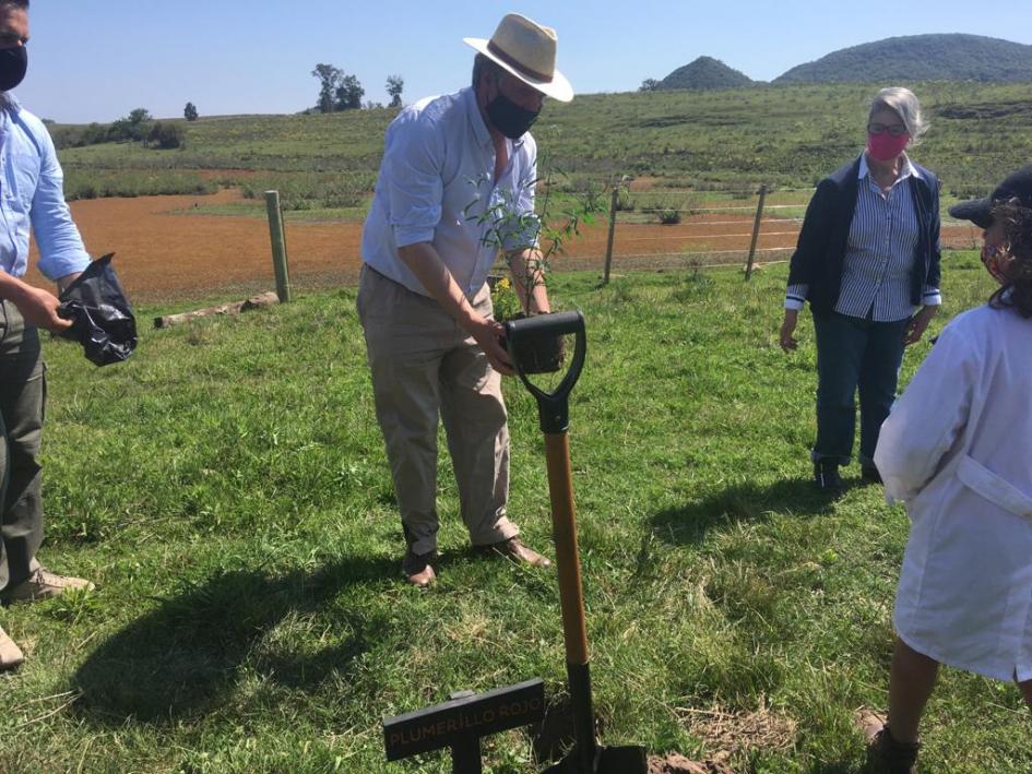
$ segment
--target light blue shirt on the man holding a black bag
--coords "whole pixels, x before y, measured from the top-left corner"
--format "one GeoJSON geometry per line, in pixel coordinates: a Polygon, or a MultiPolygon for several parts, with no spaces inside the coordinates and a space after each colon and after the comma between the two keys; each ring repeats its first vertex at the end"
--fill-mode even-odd
{"type": "Polygon", "coordinates": [[[90,263],[64,201],[64,174],[43,121],[10,94],[0,95],[0,270],[21,277],[28,267],[29,230],[39,271],[51,281],[90,263]]]}

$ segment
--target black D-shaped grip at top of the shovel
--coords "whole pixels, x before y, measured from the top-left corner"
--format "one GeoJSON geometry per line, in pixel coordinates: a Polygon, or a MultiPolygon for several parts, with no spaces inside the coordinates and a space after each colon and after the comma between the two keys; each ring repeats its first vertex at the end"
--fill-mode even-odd
{"type": "Polygon", "coordinates": [[[584,368],[584,355],[588,341],[584,335],[584,315],[580,312],[555,312],[538,314],[525,320],[510,320],[506,323],[506,346],[509,359],[517,374],[523,380],[526,389],[537,398],[537,413],[541,418],[543,432],[566,432],[570,425],[570,392],[584,368]],[[546,392],[526,378],[520,366],[517,355],[517,344],[533,338],[547,338],[572,333],[576,336],[573,359],[570,368],[554,392],[546,392]]]}

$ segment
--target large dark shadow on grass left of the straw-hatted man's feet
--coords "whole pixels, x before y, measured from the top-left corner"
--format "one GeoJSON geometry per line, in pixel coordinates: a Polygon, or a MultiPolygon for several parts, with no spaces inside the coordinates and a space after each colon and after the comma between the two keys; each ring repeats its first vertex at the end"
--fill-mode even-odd
{"type": "Polygon", "coordinates": [[[332,610],[341,639],[318,652],[276,647],[266,635],[285,618],[325,612],[348,586],[398,572],[387,559],[348,558],[315,572],[269,576],[258,570],[216,573],[162,600],[97,648],[73,677],[91,722],[175,722],[225,701],[241,666],[292,688],[315,687],[383,636],[368,611],[332,610]]]}

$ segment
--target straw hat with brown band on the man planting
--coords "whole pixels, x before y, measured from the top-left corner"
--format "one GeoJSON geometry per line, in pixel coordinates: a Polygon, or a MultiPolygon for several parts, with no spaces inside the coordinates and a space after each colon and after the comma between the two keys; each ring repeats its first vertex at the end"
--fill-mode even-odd
{"type": "Polygon", "coordinates": [[[560,103],[573,98],[573,86],[556,70],[558,36],[551,27],[519,13],[508,13],[490,40],[478,37],[462,40],[545,96],[560,103]]]}

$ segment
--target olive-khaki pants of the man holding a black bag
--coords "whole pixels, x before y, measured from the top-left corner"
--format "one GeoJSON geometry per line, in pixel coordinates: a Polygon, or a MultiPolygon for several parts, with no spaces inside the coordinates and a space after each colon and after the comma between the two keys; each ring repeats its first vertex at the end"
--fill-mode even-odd
{"type": "Polygon", "coordinates": [[[43,543],[37,457],[46,394],[39,334],[0,301],[0,590],[28,577],[43,543]]]}

